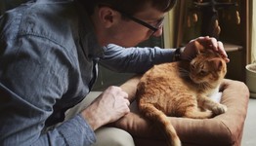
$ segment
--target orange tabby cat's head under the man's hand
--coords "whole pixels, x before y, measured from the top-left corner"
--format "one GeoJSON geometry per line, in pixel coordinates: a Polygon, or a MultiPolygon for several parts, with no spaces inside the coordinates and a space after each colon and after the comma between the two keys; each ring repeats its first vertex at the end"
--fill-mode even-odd
{"type": "Polygon", "coordinates": [[[226,73],[226,61],[210,49],[200,51],[190,63],[190,78],[196,84],[219,82],[226,73]]]}

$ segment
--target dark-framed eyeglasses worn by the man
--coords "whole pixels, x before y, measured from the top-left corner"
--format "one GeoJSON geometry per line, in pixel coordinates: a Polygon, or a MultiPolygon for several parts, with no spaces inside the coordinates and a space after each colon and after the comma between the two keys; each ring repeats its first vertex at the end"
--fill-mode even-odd
{"type": "Polygon", "coordinates": [[[155,26],[152,26],[152,25],[149,24],[148,22],[146,22],[146,21],[144,21],[144,20],[141,20],[141,19],[139,19],[139,18],[135,18],[135,17],[133,17],[133,16],[131,16],[131,15],[129,15],[129,14],[127,14],[127,13],[125,13],[125,12],[119,10],[119,9],[113,8],[113,7],[108,6],[108,5],[105,5],[105,6],[111,8],[111,9],[114,10],[114,11],[119,12],[119,13],[120,13],[122,16],[124,16],[124,17],[130,18],[130,19],[132,19],[133,21],[135,21],[135,22],[137,22],[137,23],[139,23],[139,24],[141,24],[141,25],[144,25],[145,27],[149,28],[149,29],[151,30],[150,35],[154,34],[157,30],[159,30],[159,29],[163,26],[163,20],[164,20],[164,18],[161,18],[161,19],[157,20],[155,26]]]}

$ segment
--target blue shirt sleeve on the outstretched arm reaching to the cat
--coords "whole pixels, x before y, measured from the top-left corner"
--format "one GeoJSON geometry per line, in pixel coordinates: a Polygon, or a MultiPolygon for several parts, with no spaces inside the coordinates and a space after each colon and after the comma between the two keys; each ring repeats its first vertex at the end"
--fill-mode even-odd
{"type": "Polygon", "coordinates": [[[143,73],[154,64],[173,61],[174,49],[104,47],[100,63],[116,72],[143,73]]]}

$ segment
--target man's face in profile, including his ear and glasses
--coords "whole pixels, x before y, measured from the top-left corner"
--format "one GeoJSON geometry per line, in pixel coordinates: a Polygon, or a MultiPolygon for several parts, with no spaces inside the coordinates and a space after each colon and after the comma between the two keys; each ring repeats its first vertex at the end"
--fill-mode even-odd
{"type": "MultiPolygon", "coordinates": [[[[158,37],[162,34],[164,13],[155,9],[146,8],[134,16],[127,16],[124,12],[110,7],[108,10],[107,7],[103,7],[99,12],[105,14],[101,21],[105,27],[98,29],[99,41],[102,45],[133,47],[148,40],[150,36],[158,37]]],[[[99,26],[98,23],[96,22],[96,26],[99,26]]]]}

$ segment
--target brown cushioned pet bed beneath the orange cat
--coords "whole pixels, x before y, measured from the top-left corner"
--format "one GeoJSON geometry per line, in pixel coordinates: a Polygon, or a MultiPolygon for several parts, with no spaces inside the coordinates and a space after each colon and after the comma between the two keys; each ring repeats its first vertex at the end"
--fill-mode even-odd
{"type": "MultiPolygon", "coordinates": [[[[139,77],[124,83],[121,88],[135,96],[139,77]]],[[[249,91],[239,81],[225,79],[221,103],[228,106],[225,114],[211,119],[188,119],[170,117],[183,146],[239,146],[246,118],[249,91]]],[[[134,137],[137,146],[166,145],[163,133],[153,123],[140,115],[136,100],[132,102],[131,113],[113,124],[113,127],[127,130],[134,137]]]]}

